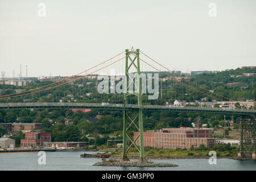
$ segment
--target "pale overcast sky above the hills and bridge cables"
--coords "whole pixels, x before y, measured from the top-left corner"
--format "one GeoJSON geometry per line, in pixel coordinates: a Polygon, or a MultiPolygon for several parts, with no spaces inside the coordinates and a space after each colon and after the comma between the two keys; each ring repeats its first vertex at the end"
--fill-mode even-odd
{"type": "Polygon", "coordinates": [[[0,71],[75,75],[131,46],[171,70],[221,71],[255,65],[255,32],[255,0],[0,0],[0,71]]]}

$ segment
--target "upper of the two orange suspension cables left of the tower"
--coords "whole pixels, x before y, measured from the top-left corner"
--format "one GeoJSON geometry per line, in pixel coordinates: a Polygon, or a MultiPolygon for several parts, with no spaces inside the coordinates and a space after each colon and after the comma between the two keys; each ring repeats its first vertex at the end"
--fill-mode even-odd
{"type": "Polygon", "coordinates": [[[100,63],[100,64],[95,65],[95,66],[92,67],[92,68],[89,68],[89,69],[86,69],[85,71],[82,71],[82,72],[80,72],[80,73],[77,73],[76,75],[73,75],[73,76],[70,76],[70,77],[67,77],[67,78],[63,78],[63,79],[61,79],[61,80],[59,80],[59,81],[53,82],[53,83],[48,84],[48,85],[40,86],[40,87],[35,88],[35,89],[30,89],[30,90],[26,90],[26,91],[18,92],[18,93],[13,93],[13,94],[6,94],[6,95],[3,95],[3,96],[0,96],[0,99],[1,99],[1,97],[13,96],[13,95],[20,94],[20,93],[31,92],[32,90],[36,90],[36,89],[42,89],[42,88],[44,88],[44,87],[51,86],[51,85],[53,85],[53,84],[57,84],[57,83],[59,83],[59,82],[61,82],[61,81],[68,80],[69,78],[72,78],[72,77],[81,75],[82,73],[87,72],[87,71],[89,71],[90,69],[96,68],[96,67],[100,66],[101,64],[107,63],[108,61],[114,59],[115,57],[121,55],[121,54],[124,53],[124,52],[125,52],[125,51],[122,51],[121,53],[118,53],[118,55],[115,55],[115,56],[111,57],[110,59],[108,59],[108,60],[106,60],[106,61],[103,61],[103,62],[100,63]]]}

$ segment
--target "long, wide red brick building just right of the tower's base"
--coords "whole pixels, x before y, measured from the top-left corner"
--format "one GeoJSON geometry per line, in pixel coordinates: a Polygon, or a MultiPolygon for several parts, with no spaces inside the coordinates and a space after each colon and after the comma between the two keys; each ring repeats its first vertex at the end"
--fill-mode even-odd
{"type": "MultiPolygon", "coordinates": [[[[139,132],[134,132],[134,139],[139,132]]],[[[204,144],[205,147],[212,148],[215,143],[214,138],[210,138],[210,129],[163,129],[160,132],[144,132],[144,146],[155,148],[194,148],[204,144]]],[[[139,138],[135,144],[139,146],[139,138]]]]}

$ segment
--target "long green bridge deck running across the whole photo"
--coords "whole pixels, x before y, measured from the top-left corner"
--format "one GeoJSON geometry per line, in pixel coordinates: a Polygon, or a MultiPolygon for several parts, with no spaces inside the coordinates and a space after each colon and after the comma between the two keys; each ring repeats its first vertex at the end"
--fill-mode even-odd
{"type": "MultiPolygon", "coordinates": [[[[145,111],[170,111],[185,113],[213,113],[256,115],[253,109],[222,109],[216,107],[163,106],[143,105],[145,111]]],[[[0,110],[8,109],[97,109],[97,110],[137,110],[139,105],[105,104],[105,103],[74,103],[74,102],[18,102],[0,103],[0,110]]]]}

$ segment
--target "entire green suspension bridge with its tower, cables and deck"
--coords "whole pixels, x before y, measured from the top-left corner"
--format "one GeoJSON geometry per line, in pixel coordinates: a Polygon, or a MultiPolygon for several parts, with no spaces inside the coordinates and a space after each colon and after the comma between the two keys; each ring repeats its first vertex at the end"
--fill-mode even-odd
{"type": "MultiPolygon", "coordinates": [[[[254,109],[222,109],[215,107],[196,107],[196,106],[172,106],[172,105],[148,105],[147,103],[142,103],[142,78],[139,77],[141,72],[155,71],[158,73],[162,73],[164,76],[174,81],[174,84],[180,85],[180,93],[181,98],[191,102],[191,100],[200,100],[200,97],[209,97],[212,100],[223,101],[226,103],[236,102],[240,103],[240,101],[232,100],[231,98],[222,96],[221,94],[214,93],[211,90],[204,88],[189,80],[189,78],[180,76],[174,71],[171,71],[164,65],[158,63],[158,61],[152,59],[150,56],[147,56],[139,49],[131,50],[126,49],[125,51],[119,53],[116,56],[111,57],[108,60],[103,61],[96,66],[86,69],[83,72],[78,73],[77,75],[73,75],[70,77],[66,77],[60,79],[58,81],[52,82],[51,84],[47,84],[44,86],[39,86],[38,88],[33,88],[30,90],[24,90],[22,92],[6,94],[0,96],[0,101],[4,100],[5,103],[0,103],[0,110],[8,110],[8,109],[97,109],[97,110],[122,110],[123,111],[123,156],[122,161],[129,160],[127,154],[131,146],[135,146],[139,151],[139,162],[146,162],[146,156],[144,156],[144,142],[143,142],[143,111],[170,111],[170,112],[186,112],[186,113],[212,113],[212,114],[238,114],[241,115],[242,121],[245,121],[246,118],[250,118],[250,123],[253,123],[253,130],[246,130],[247,127],[242,127],[242,133],[250,132],[250,137],[253,138],[250,142],[243,142],[241,139],[241,153],[247,151],[250,146],[250,151],[255,154],[255,115],[256,111],[254,109]],[[125,54],[124,56],[122,56],[125,54]],[[143,57],[140,57],[140,56],[143,57]],[[124,60],[125,61],[121,61],[124,60]],[[149,61],[148,61],[149,60],[149,61]],[[121,67],[117,68],[115,65],[117,63],[121,63],[121,67]],[[141,64],[142,63],[142,64],[141,64]],[[143,68],[144,66],[144,68],[143,68]],[[100,100],[99,103],[77,103],[77,102],[10,102],[11,98],[16,97],[27,97],[33,94],[40,94],[44,92],[50,92],[51,90],[55,90],[56,88],[64,88],[67,84],[72,84],[73,82],[79,81],[83,78],[88,77],[92,74],[99,74],[100,72],[109,72],[109,69],[121,69],[121,72],[124,71],[124,85],[122,85],[122,97],[123,104],[102,104],[100,100]],[[123,70],[123,68],[125,68],[123,70]],[[162,71],[162,70],[165,71],[162,71]],[[89,73],[88,73],[89,72],[89,73]],[[167,72],[172,73],[168,74],[167,72]],[[81,75],[85,73],[85,75],[81,75]],[[131,77],[131,74],[137,75],[136,77],[131,77]],[[80,75],[80,76],[79,76],[80,75]],[[130,85],[133,85],[133,89],[130,89],[130,85]],[[191,92],[191,93],[189,93],[191,92]],[[193,93],[197,94],[197,99],[192,97],[193,93]],[[185,93],[185,94],[184,94],[185,93]],[[137,103],[131,103],[130,98],[136,97],[137,103]],[[128,129],[134,126],[135,129],[139,131],[139,135],[137,138],[132,139],[132,137],[127,133],[128,129]],[[135,145],[135,141],[139,139],[139,147],[135,145]],[[131,142],[128,146],[127,140],[131,142]],[[251,145],[254,146],[251,148],[251,145]]],[[[111,77],[111,74],[110,74],[111,77]]],[[[109,84],[108,84],[109,85],[109,84]]],[[[152,85],[151,85],[152,86],[152,85]]],[[[147,85],[148,87],[148,85],[147,85]]],[[[166,90],[170,89],[170,85],[167,86],[166,90]]],[[[112,85],[110,84],[110,90],[112,89],[112,85]]],[[[161,97],[162,97],[162,86],[161,86],[161,97]]],[[[113,94],[113,92],[112,92],[113,94]]],[[[172,94],[172,93],[171,93],[172,94]]],[[[177,96],[170,96],[172,98],[177,96]]],[[[94,98],[95,99],[95,98],[94,98]]],[[[246,125],[246,122],[241,122],[246,125]]],[[[252,125],[252,124],[250,124],[252,125]]],[[[246,135],[247,136],[247,135],[246,135]]],[[[242,154],[241,154],[242,155],[242,154]]]]}

